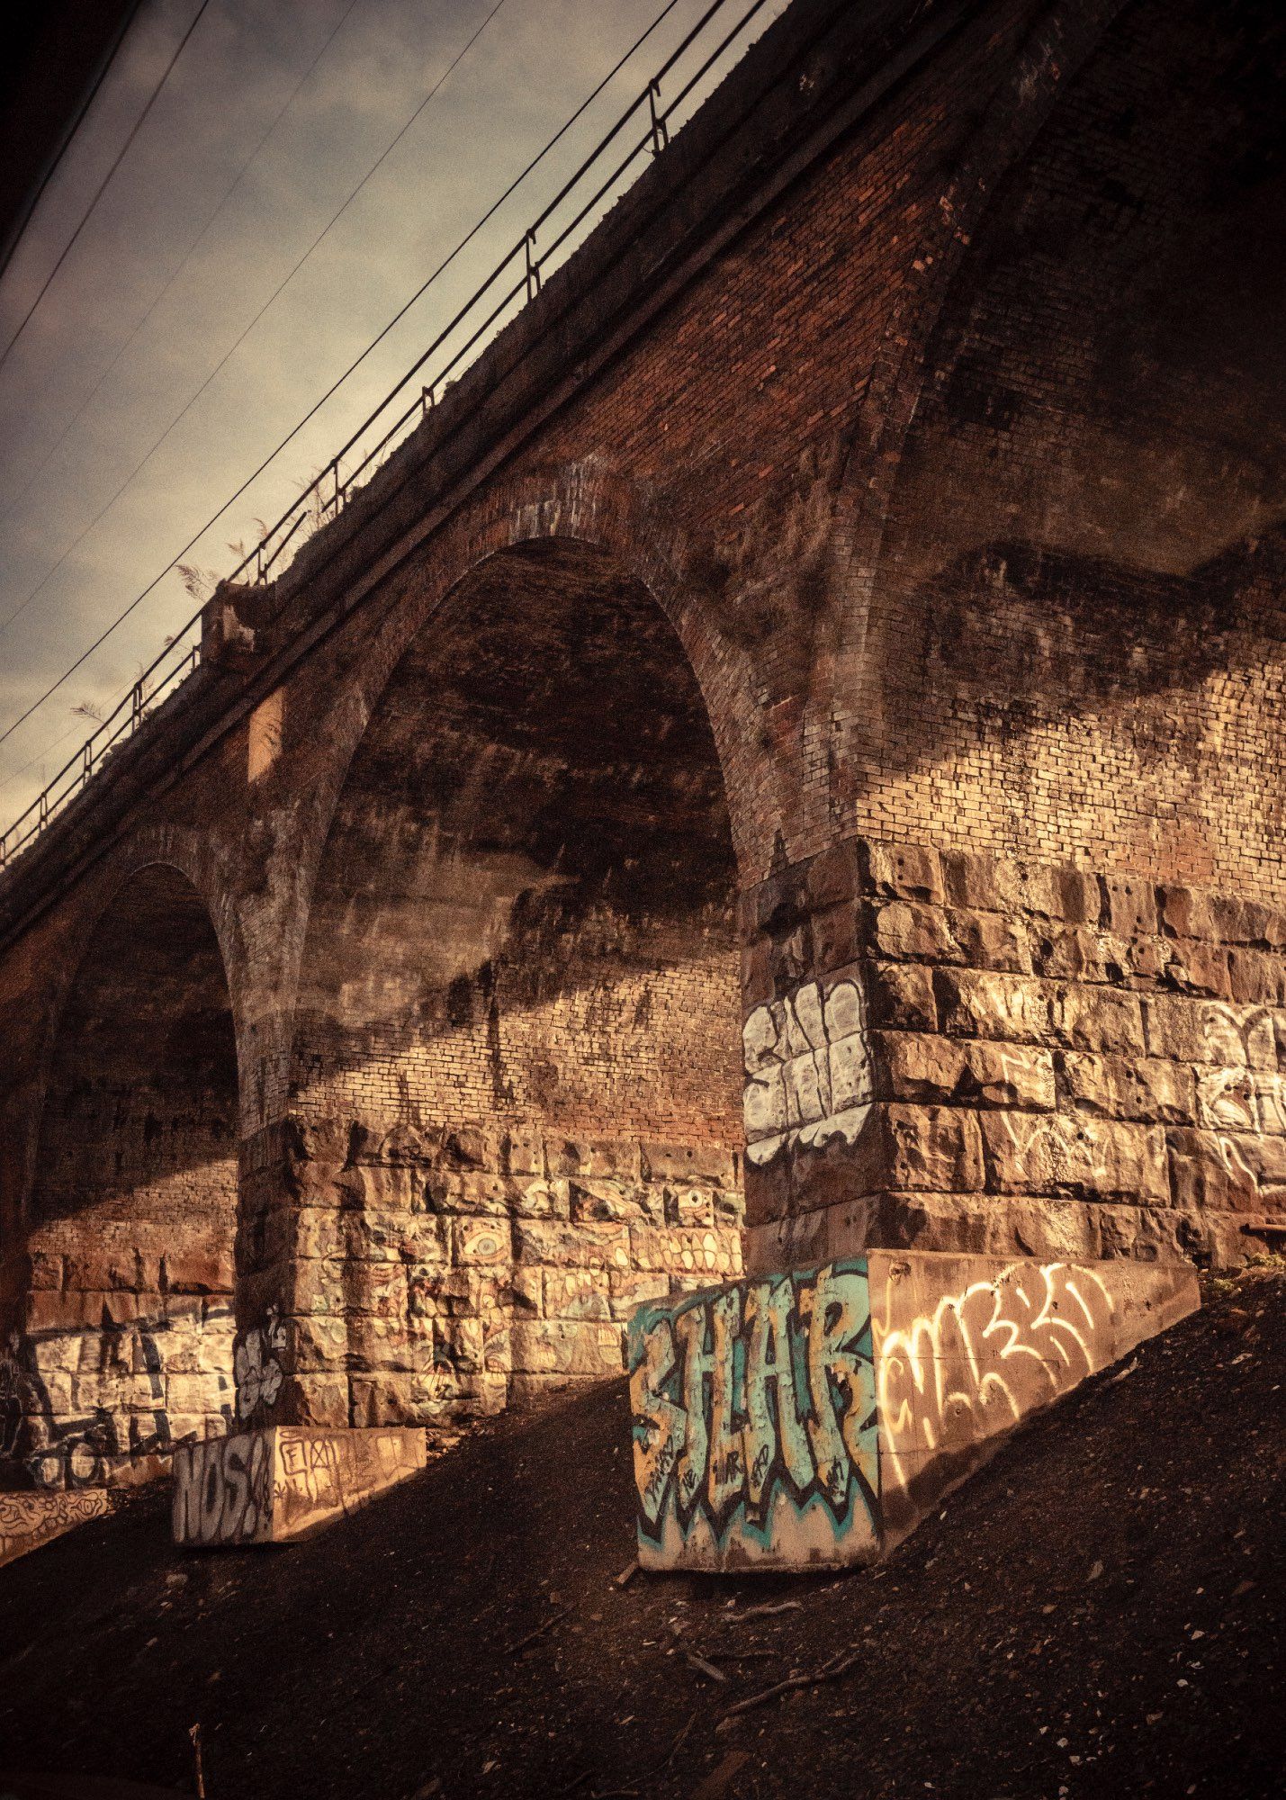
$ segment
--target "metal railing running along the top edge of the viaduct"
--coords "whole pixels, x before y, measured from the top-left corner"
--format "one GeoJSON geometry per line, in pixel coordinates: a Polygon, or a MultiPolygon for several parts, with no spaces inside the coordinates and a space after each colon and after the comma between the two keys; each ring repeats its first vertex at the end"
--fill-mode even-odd
{"type": "MultiPolygon", "coordinates": [[[[223,576],[225,581],[247,578],[258,585],[267,583],[290,545],[297,551],[312,531],[339,517],[353,490],[369,481],[375,470],[429,416],[443,389],[463,374],[528,301],[535,299],[548,274],[576,248],[578,234],[584,236],[585,230],[593,229],[594,214],[602,218],[621,198],[634,182],[639,162],[647,164],[661,155],[672,131],[695,110],[695,90],[731,50],[744,47],[753,20],[767,4],[769,0],[749,0],[722,36],[719,36],[719,27],[726,23],[722,14],[735,9],[735,0],[713,0],[706,7],[679,47],[564,182],[535,223],[522,232],[492,268],[486,281],[474,290],[303,493],[268,526],[254,549],[223,576]],[[663,92],[663,83],[666,92],[663,92]],[[668,92],[670,83],[675,85],[674,92],[668,92]],[[407,405],[405,394],[412,383],[414,398],[407,405]],[[389,419],[398,405],[400,410],[389,419]]],[[[200,666],[204,612],[205,605],[166,641],[160,655],[140,671],[112,713],[25,812],[0,833],[0,868],[45,830],[50,819],[101,769],[115,745],[133,736],[142,720],[200,666]]]]}

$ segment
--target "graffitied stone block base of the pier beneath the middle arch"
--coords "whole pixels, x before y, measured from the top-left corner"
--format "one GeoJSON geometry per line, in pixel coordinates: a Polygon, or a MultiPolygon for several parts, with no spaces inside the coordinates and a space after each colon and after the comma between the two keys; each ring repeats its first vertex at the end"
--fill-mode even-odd
{"type": "Polygon", "coordinates": [[[434,1424],[620,1375],[641,1301],[740,1271],[717,1145],[292,1118],[259,1152],[241,1255],[268,1390],[256,1413],[240,1388],[243,1418],[434,1424]]]}

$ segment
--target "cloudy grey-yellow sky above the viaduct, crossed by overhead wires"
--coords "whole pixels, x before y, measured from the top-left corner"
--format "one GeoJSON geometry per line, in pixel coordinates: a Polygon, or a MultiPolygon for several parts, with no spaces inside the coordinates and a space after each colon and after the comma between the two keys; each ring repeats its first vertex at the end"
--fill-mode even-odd
{"type": "MultiPolygon", "coordinates": [[[[702,54],[751,5],[728,0],[702,54]]],[[[735,54],[783,5],[767,0],[735,54]]],[[[207,0],[202,11],[200,0],[144,0],[0,281],[2,351],[196,20],[0,365],[0,731],[236,491],[663,9],[665,0],[499,0],[499,9],[497,0],[207,0]]],[[[232,567],[229,545],[249,545],[256,517],[276,518],[328,461],[704,9],[706,0],[675,0],[186,562],[232,567]]],[[[684,74],[695,65],[693,50],[684,74]]],[[[715,76],[728,67],[731,54],[715,76]]],[[[83,709],[110,711],[193,610],[178,572],[168,574],[0,743],[0,826],[92,729],[83,709]]]]}

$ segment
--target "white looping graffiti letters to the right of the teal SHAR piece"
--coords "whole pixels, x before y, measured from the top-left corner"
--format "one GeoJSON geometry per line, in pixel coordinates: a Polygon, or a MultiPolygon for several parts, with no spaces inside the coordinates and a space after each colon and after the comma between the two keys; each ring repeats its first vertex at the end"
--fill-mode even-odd
{"type": "MultiPolygon", "coordinates": [[[[904,1314],[895,1283],[883,1319],[904,1314]]],[[[883,1474],[902,1489],[931,1456],[1009,1431],[1113,1355],[1102,1280],[1068,1264],[1014,1264],[908,1325],[875,1321],[883,1474]]]]}

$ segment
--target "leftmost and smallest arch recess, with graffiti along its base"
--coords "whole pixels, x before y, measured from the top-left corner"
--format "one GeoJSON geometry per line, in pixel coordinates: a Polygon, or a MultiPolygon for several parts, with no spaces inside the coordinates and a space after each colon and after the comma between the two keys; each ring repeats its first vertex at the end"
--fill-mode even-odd
{"type": "Polygon", "coordinates": [[[232,1417],[238,1057],[204,900],[135,869],[67,983],[23,1206],[11,1456],[47,1487],[144,1480],[232,1417]]]}

